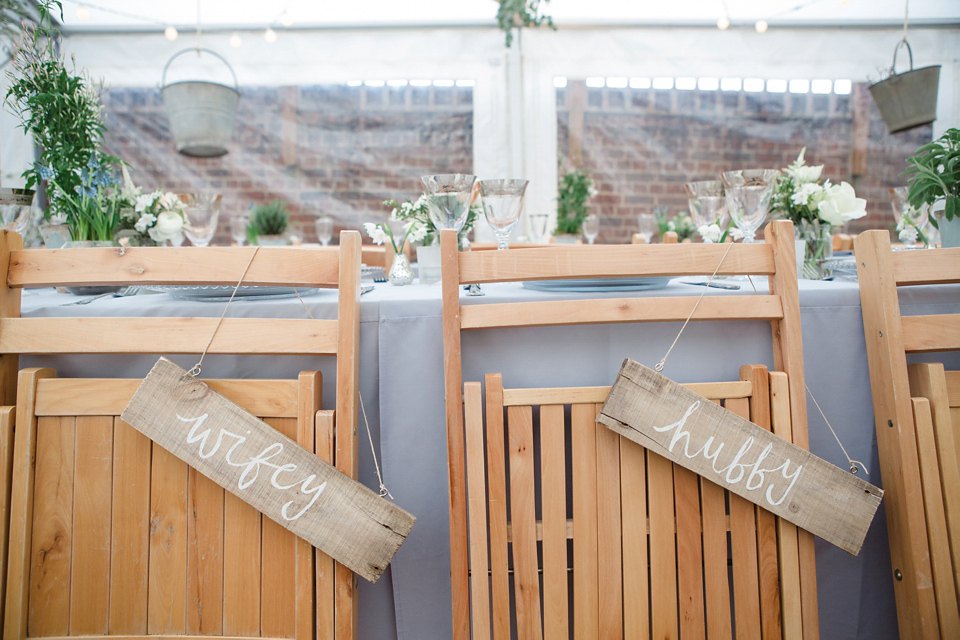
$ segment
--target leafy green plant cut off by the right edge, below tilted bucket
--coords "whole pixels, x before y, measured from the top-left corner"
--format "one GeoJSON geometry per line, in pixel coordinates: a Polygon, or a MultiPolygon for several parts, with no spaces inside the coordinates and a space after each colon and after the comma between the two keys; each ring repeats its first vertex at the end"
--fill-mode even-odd
{"type": "MultiPolygon", "coordinates": [[[[903,175],[910,178],[911,206],[919,208],[943,199],[947,220],[960,215],[960,129],[948,129],[940,138],[917,149],[907,159],[903,175]]],[[[930,222],[937,226],[932,215],[930,222]]]]}

